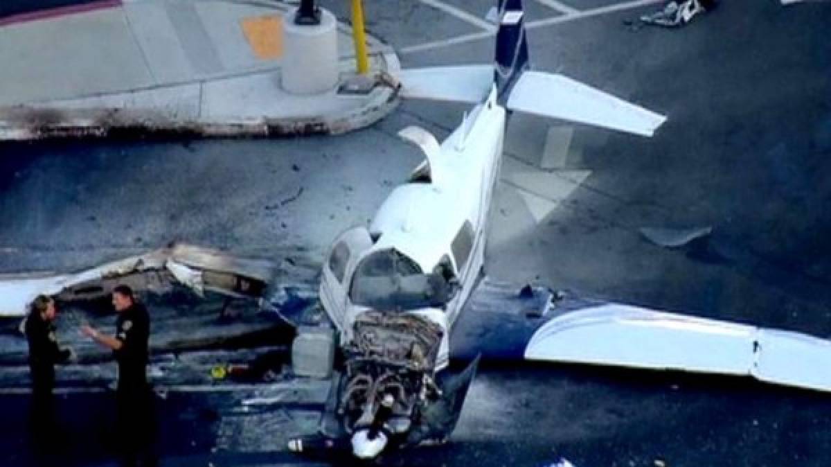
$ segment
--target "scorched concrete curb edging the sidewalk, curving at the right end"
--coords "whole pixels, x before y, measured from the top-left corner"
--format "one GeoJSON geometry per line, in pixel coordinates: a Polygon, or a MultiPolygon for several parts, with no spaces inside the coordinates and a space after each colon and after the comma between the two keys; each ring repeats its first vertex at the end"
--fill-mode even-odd
{"type": "MultiPolygon", "coordinates": [[[[57,138],[129,138],[140,136],[190,137],[284,137],[297,135],[339,135],[376,123],[395,110],[399,86],[393,77],[400,69],[394,52],[382,52],[386,71],[372,76],[375,87],[361,106],[329,115],[300,117],[210,116],[199,111],[182,112],[174,104],[131,108],[129,105],[73,108],[70,101],[0,107],[0,140],[45,140],[57,138]],[[184,115],[183,115],[184,114],[184,115]],[[189,115],[188,115],[189,114],[189,115]]],[[[204,83],[199,83],[204,84],[204,83]]],[[[183,86],[183,85],[176,85],[183,86]]],[[[156,90],[118,93],[118,99],[139,92],[170,92],[176,86],[156,90]]],[[[107,96],[98,96],[106,100],[107,96]]],[[[117,99],[116,99],[117,100],[117,99]]],[[[78,100],[74,100],[78,101],[78,100]]],[[[180,106],[180,105],[179,105],[180,106]]],[[[138,107],[138,106],[136,106],[138,107]]]]}

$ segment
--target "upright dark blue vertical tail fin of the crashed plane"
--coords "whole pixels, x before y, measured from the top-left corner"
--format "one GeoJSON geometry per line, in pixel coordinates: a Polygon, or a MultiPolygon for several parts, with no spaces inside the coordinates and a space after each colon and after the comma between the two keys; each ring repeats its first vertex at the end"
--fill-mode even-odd
{"type": "Polygon", "coordinates": [[[498,0],[494,54],[494,83],[497,95],[507,99],[514,84],[529,69],[528,41],[525,38],[525,11],[522,0],[498,0]]]}

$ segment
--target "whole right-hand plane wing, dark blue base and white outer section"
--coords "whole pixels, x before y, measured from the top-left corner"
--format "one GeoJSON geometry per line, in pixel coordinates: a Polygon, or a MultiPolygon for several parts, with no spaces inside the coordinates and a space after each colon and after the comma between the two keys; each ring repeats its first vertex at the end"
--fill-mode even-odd
{"type": "Polygon", "coordinates": [[[752,376],[831,391],[831,341],[484,282],[456,324],[451,355],[588,363],[649,370],[752,376]],[[541,302],[553,297],[553,302],[541,302]],[[501,304],[500,304],[501,303],[501,304]],[[478,316],[477,316],[478,315],[478,316]],[[465,321],[466,320],[466,321],[465,321]],[[498,337],[498,338],[497,338],[498,337]],[[476,342],[477,339],[479,342],[476,342]]]}

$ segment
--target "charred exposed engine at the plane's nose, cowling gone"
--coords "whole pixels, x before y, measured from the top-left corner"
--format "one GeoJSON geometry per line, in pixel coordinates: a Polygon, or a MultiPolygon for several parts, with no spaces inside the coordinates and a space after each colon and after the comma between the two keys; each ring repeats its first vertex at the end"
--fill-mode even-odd
{"type": "Polygon", "coordinates": [[[440,394],[433,380],[443,331],[424,317],[364,312],[346,348],[337,414],[344,430],[405,433],[440,394]]]}

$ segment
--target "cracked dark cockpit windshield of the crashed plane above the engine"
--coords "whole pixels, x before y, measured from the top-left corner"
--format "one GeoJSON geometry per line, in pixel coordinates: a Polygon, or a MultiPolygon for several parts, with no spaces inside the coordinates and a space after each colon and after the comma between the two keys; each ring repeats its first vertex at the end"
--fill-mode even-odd
{"type": "Polygon", "coordinates": [[[454,292],[452,278],[448,268],[425,274],[395,249],[381,250],[358,265],[349,296],[352,303],[376,310],[444,307],[454,292]]]}

